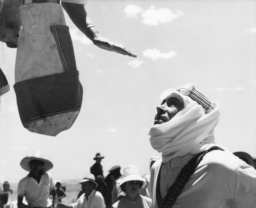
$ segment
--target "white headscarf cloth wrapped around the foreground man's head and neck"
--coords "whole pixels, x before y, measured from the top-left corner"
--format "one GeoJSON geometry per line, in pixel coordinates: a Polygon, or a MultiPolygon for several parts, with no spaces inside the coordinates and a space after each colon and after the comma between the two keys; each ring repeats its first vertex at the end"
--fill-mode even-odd
{"type": "Polygon", "coordinates": [[[148,133],[151,146],[162,152],[163,162],[188,153],[198,154],[212,146],[227,150],[216,144],[214,139],[214,128],[219,122],[219,107],[215,105],[214,110],[205,113],[206,109],[202,105],[175,89],[165,90],[160,95],[160,105],[171,93],[181,96],[184,108],[169,122],[153,125],[148,133]]]}

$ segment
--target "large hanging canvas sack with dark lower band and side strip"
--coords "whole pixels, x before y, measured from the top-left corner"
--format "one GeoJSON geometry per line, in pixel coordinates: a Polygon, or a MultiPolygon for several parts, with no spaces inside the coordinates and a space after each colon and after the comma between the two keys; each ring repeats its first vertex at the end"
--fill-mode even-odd
{"type": "Polygon", "coordinates": [[[56,136],[73,125],[82,103],[69,29],[58,3],[25,3],[19,10],[14,90],[20,119],[31,132],[56,136]]]}

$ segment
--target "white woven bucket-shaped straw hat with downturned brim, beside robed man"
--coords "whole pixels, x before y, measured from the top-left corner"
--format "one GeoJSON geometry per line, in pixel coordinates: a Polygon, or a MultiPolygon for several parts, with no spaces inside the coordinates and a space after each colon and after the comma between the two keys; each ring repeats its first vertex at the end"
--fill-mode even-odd
{"type": "Polygon", "coordinates": [[[124,184],[127,181],[141,181],[142,186],[140,187],[140,189],[144,188],[147,183],[146,180],[141,177],[141,175],[139,173],[139,167],[135,166],[135,165],[129,165],[124,168],[124,174],[122,177],[122,181],[119,184],[120,187],[122,188],[122,186],[124,186],[124,184]]]}

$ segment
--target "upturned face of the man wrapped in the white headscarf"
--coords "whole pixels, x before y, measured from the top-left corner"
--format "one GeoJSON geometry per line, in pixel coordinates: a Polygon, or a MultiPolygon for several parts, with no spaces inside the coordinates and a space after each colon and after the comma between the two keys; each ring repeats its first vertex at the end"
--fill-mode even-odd
{"type": "Polygon", "coordinates": [[[178,112],[184,108],[184,101],[180,95],[171,93],[159,105],[156,110],[154,124],[162,124],[170,121],[178,112]]]}

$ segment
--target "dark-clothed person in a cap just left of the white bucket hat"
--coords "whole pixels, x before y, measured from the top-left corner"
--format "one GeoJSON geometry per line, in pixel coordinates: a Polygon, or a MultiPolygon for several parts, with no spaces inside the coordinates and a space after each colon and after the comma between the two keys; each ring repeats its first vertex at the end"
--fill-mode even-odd
{"type": "MultiPolygon", "coordinates": [[[[109,174],[105,178],[105,183],[107,185],[106,193],[104,197],[106,208],[111,208],[112,206],[112,190],[114,182],[119,179],[122,174],[120,173],[120,166],[113,166],[109,169],[109,174]]],[[[117,200],[118,201],[118,200],[117,200]]]]}

